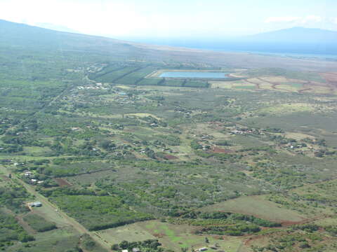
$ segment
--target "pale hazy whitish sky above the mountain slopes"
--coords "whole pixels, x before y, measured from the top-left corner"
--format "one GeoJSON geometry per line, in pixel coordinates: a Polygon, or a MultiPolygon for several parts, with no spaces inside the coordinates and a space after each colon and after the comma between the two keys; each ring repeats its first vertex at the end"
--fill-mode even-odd
{"type": "Polygon", "coordinates": [[[222,37],[337,30],[337,0],[0,0],[0,19],[116,38],[222,37]]]}

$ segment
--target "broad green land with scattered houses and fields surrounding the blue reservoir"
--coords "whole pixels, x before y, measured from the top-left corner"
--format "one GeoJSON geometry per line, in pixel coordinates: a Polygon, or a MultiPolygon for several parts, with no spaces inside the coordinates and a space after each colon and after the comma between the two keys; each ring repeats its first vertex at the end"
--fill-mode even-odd
{"type": "Polygon", "coordinates": [[[336,251],[333,62],[0,28],[3,250],[336,251]]]}

